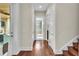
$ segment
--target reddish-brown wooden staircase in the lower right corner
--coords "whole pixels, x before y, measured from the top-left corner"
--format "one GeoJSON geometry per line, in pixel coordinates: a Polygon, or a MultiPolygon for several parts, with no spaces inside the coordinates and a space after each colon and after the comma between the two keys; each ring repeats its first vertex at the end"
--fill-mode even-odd
{"type": "Polygon", "coordinates": [[[68,46],[68,50],[63,50],[63,54],[56,54],[56,56],[79,56],[79,39],[72,44],[73,46],[68,46]]]}

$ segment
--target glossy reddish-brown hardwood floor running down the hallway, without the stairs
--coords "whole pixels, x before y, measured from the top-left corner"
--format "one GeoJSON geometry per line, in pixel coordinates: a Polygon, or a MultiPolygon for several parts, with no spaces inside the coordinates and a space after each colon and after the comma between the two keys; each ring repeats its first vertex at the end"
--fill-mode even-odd
{"type": "Polygon", "coordinates": [[[53,56],[52,49],[48,46],[47,40],[35,40],[32,51],[20,51],[17,56],[53,56]]]}

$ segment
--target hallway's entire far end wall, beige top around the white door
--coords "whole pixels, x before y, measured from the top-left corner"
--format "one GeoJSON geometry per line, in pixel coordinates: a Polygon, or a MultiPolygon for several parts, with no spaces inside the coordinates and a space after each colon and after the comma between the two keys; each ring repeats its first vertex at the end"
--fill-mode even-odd
{"type": "Polygon", "coordinates": [[[34,11],[34,32],[35,40],[44,40],[45,38],[45,12],[34,11]]]}

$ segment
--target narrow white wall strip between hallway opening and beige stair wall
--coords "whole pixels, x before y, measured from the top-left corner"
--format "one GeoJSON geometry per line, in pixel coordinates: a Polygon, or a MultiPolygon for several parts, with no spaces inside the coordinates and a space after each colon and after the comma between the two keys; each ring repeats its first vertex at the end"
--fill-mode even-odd
{"type": "Polygon", "coordinates": [[[49,31],[48,44],[55,52],[55,4],[50,4],[46,13],[47,30],[49,31]]]}

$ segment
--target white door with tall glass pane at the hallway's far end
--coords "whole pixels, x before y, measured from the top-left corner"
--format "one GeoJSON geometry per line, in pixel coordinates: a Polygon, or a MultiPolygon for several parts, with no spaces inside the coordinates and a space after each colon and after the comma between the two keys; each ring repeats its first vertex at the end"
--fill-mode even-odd
{"type": "Polygon", "coordinates": [[[43,37],[43,17],[36,17],[36,39],[44,39],[43,37]]]}

